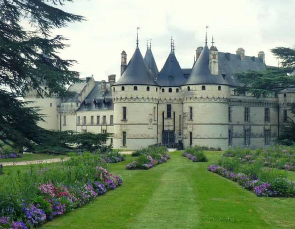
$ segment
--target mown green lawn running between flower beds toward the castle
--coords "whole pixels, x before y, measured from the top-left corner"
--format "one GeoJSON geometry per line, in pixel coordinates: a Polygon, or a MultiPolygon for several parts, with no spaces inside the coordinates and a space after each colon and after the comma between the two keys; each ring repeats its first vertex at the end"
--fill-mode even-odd
{"type": "Polygon", "coordinates": [[[109,170],[124,184],[44,225],[43,229],[280,229],[295,228],[295,199],[259,198],[206,170],[221,154],[207,152],[208,163],[193,163],[179,152],[151,170],[109,170]]]}

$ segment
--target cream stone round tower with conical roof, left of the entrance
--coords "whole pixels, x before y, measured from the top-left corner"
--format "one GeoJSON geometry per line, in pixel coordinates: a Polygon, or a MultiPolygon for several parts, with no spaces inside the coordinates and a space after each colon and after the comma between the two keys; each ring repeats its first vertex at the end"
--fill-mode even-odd
{"type": "Polygon", "coordinates": [[[138,48],[112,85],[114,149],[137,150],[157,143],[159,87],[138,48]]]}

